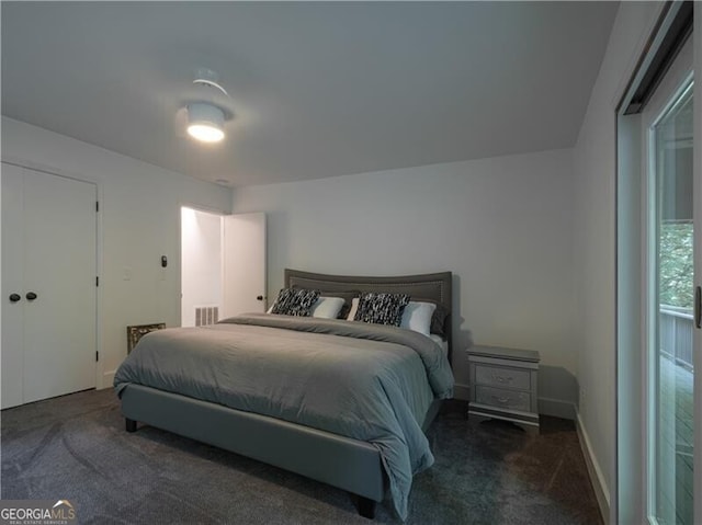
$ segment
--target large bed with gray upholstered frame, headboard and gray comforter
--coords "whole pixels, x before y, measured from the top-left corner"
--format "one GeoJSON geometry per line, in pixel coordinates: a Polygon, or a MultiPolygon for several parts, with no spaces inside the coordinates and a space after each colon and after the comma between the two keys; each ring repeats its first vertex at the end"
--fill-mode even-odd
{"type": "MultiPolygon", "coordinates": [[[[374,517],[376,503],[383,501],[386,492],[389,491],[398,515],[403,518],[406,517],[407,484],[411,484],[411,476],[415,471],[431,465],[433,457],[430,450],[420,449],[416,454],[417,458],[414,458],[410,450],[408,456],[412,471],[409,472],[409,480],[407,480],[405,479],[407,477],[404,471],[405,467],[396,467],[394,463],[396,460],[400,464],[405,461],[404,450],[401,454],[397,454],[394,447],[396,442],[407,441],[411,447],[414,442],[421,442],[422,438],[426,441],[423,431],[429,427],[438,413],[441,400],[452,395],[453,376],[449,365],[452,353],[450,313],[452,274],[442,272],[410,276],[360,277],[285,270],[284,286],[286,289],[321,290],[320,294],[324,296],[343,295],[344,293],[358,295],[369,293],[406,294],[412,300],[433,303],[435,311],[442,311],[442,315],[434,316],[432,321],[434,328],[437,321],[441,323],[437,331],[443,334],[443,350],[437,352],[435,349],[440,346],[437,342],[431,342],[426,335],[412,330],[395,327],[367,327],[367,323],[343,319],[317,320],[265,313],[245,315],[217,323],[215,329],[207,333],[211,339],[214,333],[215,339],[219,342],[212,343],[213,349],[206,351],[204,349],[210,347],[211,343],[204,344],[199,339],[201,333],[206,332],[205,330],[194,328],[159,330],[145,335],[139,341],[115,375],[115,389],[122,402],[122,413],[126,421],[127,432],[135,432],[137,422],[149,424],[331,484],[354,494],[359,513],[369,518],[374,517]],[[244,331],[244,333],[237,332],[238,334],[235,335],[229,333],[230,330],[244,331]],[[270,343],[267,342],[269,335],[275,336],[270,343]],[[280,335],[282,335],[282,341],[279,342],[280,335]],[[238,379],[241,383],[251,383],[251,385],[242,387],[245,389],[259,388],[260,377],[256,375],[256,370],[265,370],[267,375],[278,379],[270,381],[271,385],[267,385],[263,391],[267,396],[271,396],[271,399],[280,399],[285,404],[284,407],[270,408],[269,404],[273,404],[272,402],[261,399],[260,396],[258,398],[253,395],[249,396],[249,390],[246,390],[244,395],[238,395],[236,402],[230,402],[230,399],[227,398],[226,389],[219,387],[222,377],[213,374],[220,374],[219,370],[226,367],[216,359],[229,359],[230,357],[229,354],[215,346],[219,344],[227,349],[238,349],[239,339],[235,343],[233,342],[235,336],[241,340],[249,339],[253,342],[257,353],[251,359],[263,358],[263,355],[268,355],[269,346],[271,354],[276,356],[271,358],[288,359],[269,363],[265,368],[261,368],[257,361],[251,368],[253,372],[249,370],[246,377],[242,376],[238,379]],[[262,346],[263,344],[267,346],[262,346]],[[189,351],[181,349],[181,346],[188,345],[190,345],[189,351]],[[298,355],[293,350],[299,345],[305,346],[304,352],[301,350],[298,355]],[[346,415],[344,421],[328,422],[326,415],[315,412],[317,408],[315,403],[329,404],[337,401],[330,401],[333,399],[332,393],[313,396],[307,391],[312,388],[309,385],[305,385],[306,381],[312,381],[310,374],[313,373],[306,372],[310,369],[309,363],[342,362],[344,370],[367,367],[367,364],[361,361],[366,358],[365,354],[370,353],[366,352],[365,345],[375,349],[372,358],[378,359],[377,368],[381,370],[378,374],[383,380],[388,376],[403,376],[405,373],[400,374],[400,369],[404,369],[405,363],[407,366],[411,365],[407,375],[417,376],[416,369],[420,365],[416,363],[421,363],[421,366],[424,367],[422,378],[412,380],[426,383],[428,386],[419,386],[417,391],[423,392],[429,388],[427,391],[430,398],[426,392],[422,396],[415,395],[415,387],[412,387],[411,393],[404,391],[398,393],[394,386],[388,387],[385,384],[378,390],[390,398],[421,398],[421,401],[407,402],[408,408],[399,410],[399,412],[407,413],[404,413],[401,418],[398,416],[398,422],[390,423],[389,412],[383,412],[390,409],[398,411],[397,407],[386,409],[384,400],[382,407],[373,404],[371,415],[359,414],[356,419],[359,419],[362,430],[354,426],[359,422],[351,424],[346,421],[346,415]],[[156,350],[149,350],[151,346],[156,350]],[[280,350],[273,350],[275,346],[285,346],[291,351],[282,356],[280,350]],[[362,346],[362,350],[353,350],[356,346],[362,346]],[[418,346],[418,349],[414,346],[418,346]],[[331,353],[331,349],[333,349],[333,353],[331,353]],[[212,366],[206,373],[203,373],[205,379],[185,377],[180,386],[176,386],[171,384],[170,379],[166,380],[161,377],[171,367],[180,366],[192,370],[194,367],[190,363],[185,365],[177,365],[177,363],[179,359],[186,359],[201,351],[210,352],[205,358],[212,362],[212,366]],[[333,357],[320,359],[319,356],[322,355],[322,352],[332,354],[333,357]],[[144,375],[137,378],[135,370],[140,366],[137,365],[138,359],[147,363],[144,365],[145,368],[151,367],[150,376],[155,377],[154,380],[148,379],[148,372],[146,374],[141,372],[144,375]],[[349,359],[349,362],[343,359],[349,359]],[[394,368],[395,366],[397,369],[394,368]],[[296,368],[305,372],[301,372],[302,376],[293,378],[291,381],[287,376],[291,376],[296,368]],[[292,384],[288,385],[285,381],[292,384]],[[279,383],[284,385],[281,386],[279,383]],[[212,387],[211,384],[217,385],[217,387],[212,387]],[[203,393],[205,388],[208,390],[207,393],[203,393]],[[393,391],[388,393],[388,390],[393,391]],[[325,399],[327,397],[330,400],[325,399]],[[301,408],[295,409],[293,403],[297,402],[298,398],[302,400],[299,401],[301,408]],[[315,410],[307,410],[308,408],[315,410]],[[374,415],[376,412],[378,413],[377,418],[374,415]],[[318,422],[319,424],[317,424],[318,422]],[[374,425],[381,425],[383,429],[377,430],[374,425]],[[387,435],[385,425],[389,429],[387,435]],[[414,426],[420,429],[419,434],[421,435],[414,435],[416,434],[411,430],[414,426]],[[341,430],[338,431],[338,427],[341,430]],[[409,429],[407,436],[399,434],[396,436],[397,433],[401,434],[406,429],[409,429]],[[381,435],[383,437],[375,440],[376,435],[381,435]],[[365,440],[366,433],[370,433],[369,435],[372,435],[373,438],[365,440]],[[398,486],[401,487],[398,489],[398,486]]],[[[354,307],[358,307],[358,304],[354,304],[354,307]]],[[[435,334],[433,338],[437,339],[435,334]]],[[[241,370],[245,367],[244,362],[236,366],[241,370]]],[[[344,384],[347,375],[353,376],[352,372],[338,374],[331,368],[329,370],[324,372],[324,377],[322,373],[316,376],[314,383],[310,383],[314,388],[321,388],[318,383],[324,383],[325,379],[324,388],[331,388],[333,387],[331,383],[344,384]]],[[[229,375],[236,375],[236,373],[229,369],[227,376],[229,375]]],[[[363,377],[360,380],[370,385],[378,383],[377,377],[371,374],[365,374],[365,376],[369,377],[363,377]]],[[[399,380],[405,381],[404,378],[399,380]]],[[[395,381],[394,378],[393,381],[395,381]]],[[[415,384],[408,383],[408,385],[415,384]]],[[[314,388],[312,389],[314,390],[314,388]]],[[[355,386],[347,388],[363,390],[355,386]]],[[[407,387],[403,383],[399,390],[404,388],[407,387]]],[[[340,392],[339,396],[349,397],[349,393],[340,392]]],[[[377,393],[369,393],[367,396],[369,399],[372,398],[370,401],[359,393],[361,399],[359,403],[366,406],[371,402],[381,402],[376,400],[377,393]]],[[[400,401],[400,404],[404,407],[404,401],[400,401]]],[[[337,412],[350,414],[344,409],[338,409],[337,412]]],[[[349,419],[353,419],[352,414],[349,415],[349,419]]],[[[418,446],[423,446],[423,443],[418,446]]],[[[426,446],[428,447],[428,444],[426,446]]]]}

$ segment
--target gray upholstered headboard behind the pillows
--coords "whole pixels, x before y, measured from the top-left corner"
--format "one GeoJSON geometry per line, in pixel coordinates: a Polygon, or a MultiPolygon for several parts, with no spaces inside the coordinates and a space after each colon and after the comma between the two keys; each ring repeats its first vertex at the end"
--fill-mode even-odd
{"type": "Polygon", "coordinates": [[[312,288],[324,292],[392,292],[394,294],[408,294],[415,298],[435,300],[449,311],[449,316],[444,321],[444,333],[449,342],[449,358],[451,358],[453,353],[451,272],[393,277],[365,277],[358,275],[326,275],[285,269],[284,278],[286,288],[312,288]]]}

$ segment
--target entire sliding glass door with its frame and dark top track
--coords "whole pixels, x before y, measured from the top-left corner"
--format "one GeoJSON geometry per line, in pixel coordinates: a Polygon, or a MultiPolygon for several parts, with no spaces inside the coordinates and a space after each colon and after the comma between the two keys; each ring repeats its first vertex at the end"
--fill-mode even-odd
{"type": "Polygon", "coordinates": [[[693,76],[702,18],[693,11],[687,1],[660,5],[616,110],[613,523],[702,524],[702,114],[693,76]]]}

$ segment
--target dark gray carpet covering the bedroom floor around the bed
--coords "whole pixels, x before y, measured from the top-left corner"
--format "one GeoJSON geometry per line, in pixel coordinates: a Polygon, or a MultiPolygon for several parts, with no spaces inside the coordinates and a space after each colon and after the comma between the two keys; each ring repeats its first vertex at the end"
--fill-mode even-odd
{"type": "MultiPolygon", "coordinates": [[[[444,406],[407,524],[599,524],[573,423],[540,435],[444,406]]],[[[4,410],[4,500],[69,500],[81,524],[363,524],[338,489],[157,429],[124,431],[111,389],[4,410]]],[[[282,444],[284,446],[284,444],[282,444]]],[[[377,523],[400,523],[388,502],[377,523]]]]}

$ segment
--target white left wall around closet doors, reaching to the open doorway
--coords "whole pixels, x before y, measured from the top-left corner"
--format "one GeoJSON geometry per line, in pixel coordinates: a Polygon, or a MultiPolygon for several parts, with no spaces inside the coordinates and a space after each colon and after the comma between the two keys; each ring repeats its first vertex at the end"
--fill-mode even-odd
{"type": "Polygon", "coordinates": [[[231,191],[5,117],[2,160],[99,185],[98,386],[110,387],[126,356],[128,324],[180,322],[181,206],[229,213],[231,191]]]}

